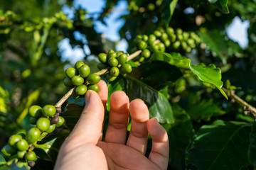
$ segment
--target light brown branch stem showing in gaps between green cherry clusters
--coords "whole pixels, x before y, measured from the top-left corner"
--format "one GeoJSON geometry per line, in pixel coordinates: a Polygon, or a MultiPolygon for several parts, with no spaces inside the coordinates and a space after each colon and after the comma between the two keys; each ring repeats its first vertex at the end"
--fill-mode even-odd
{"type": "MultiPolygon", "coordinates": [[[[135,57],[137,57],[140,53],[142,52],[142,50],[138,50],[134,53],[132,53],[132,55],[129,55],[129,57],[127,57],[127,61],[134,59],[135,57]]],[[[109,68],[107,69],[102,69],[99,72],[95,72],[95,74],[98,74],[99,76],[102,74],[105,74],[105,72],[108,71],[109,68]]],[[[68,98],[73,94],[75,90],[75,87],[73,87],[72,89],[70,89],[70,91],[68,91],[67,94],[65,94],[62,98],[60,98],[60,101],[58,101],[58,103],[55,104],[55,107],[61,107],[63,105],[63,103],[68,100],[68,98]]]]}

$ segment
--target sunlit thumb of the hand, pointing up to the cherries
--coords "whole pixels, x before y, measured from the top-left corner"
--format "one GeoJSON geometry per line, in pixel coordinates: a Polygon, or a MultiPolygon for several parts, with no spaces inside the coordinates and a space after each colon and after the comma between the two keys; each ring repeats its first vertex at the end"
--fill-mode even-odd
{"type": "Polygon", "coordinates": [[[104,120],[104,106],[100,96],[95,91],[87,91],[85,94],[85,108],[80,115],[78,123],[68,137],[74,145],[87,143],[97,144],[104,120]]]}

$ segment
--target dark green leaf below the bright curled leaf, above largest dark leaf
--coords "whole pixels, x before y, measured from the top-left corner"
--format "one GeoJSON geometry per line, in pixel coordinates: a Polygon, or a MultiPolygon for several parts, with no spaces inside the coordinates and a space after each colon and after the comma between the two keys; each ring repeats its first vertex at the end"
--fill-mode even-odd
{"type": "Polygon", "coordinates": [[[193,120],[201,122],[201,120],[210,121],[210,118],[215,115],[223,115],[225,111],[222,111],[213,101],[213,98],[209,100],[203,99],[200,103],[193,103],[188,109],[189,115],[193,120]]]}

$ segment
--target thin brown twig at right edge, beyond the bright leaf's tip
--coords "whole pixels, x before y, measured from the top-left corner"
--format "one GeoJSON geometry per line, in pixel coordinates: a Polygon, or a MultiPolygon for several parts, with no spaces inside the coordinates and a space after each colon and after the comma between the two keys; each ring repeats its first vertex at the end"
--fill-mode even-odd
{"type": "MultiPolygon", "coordinates": [[[[228,94],[228,90],[225,89],[224,87],[222,88],[223,91],[225,91],[226,94],[228,94]]],[[[252,113],[252,115],[256,118],[256,108],[251,106],[250,104],[248,104],[247,102],[245,102],[244,100],[242,100],[242,98],[238,97],[235,94],[235,91],[230,91],[230,98],[233,98],[235,100],[236,103],[240,104],[240,106],[243,106],[248,113],[252,113]]]]}

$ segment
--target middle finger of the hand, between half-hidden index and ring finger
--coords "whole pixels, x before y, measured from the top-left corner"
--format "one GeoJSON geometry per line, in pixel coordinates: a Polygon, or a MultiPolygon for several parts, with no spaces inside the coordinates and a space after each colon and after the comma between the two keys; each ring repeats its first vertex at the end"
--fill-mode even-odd
{"type": "Polygon", "coordinates": [[[110,96],[110,118],[105,142],[125,144],[129,118],[129,98],[124,91],[114,91],[110,96]]]}

